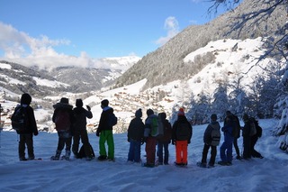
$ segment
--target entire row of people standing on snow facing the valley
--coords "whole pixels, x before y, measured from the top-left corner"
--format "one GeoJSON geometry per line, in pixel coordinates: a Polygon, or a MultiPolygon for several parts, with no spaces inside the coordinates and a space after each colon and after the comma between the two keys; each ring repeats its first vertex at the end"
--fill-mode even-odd
{"type": "MultiPolygon", "coordinates": [[[[35,158],[33,151],[33,135],[38,135],[37,124],[34,117],[33,109],[30,106],[31,96],[23,94],[21,104],[27,111],[28,120],[27,128],[24,131],[17,131],[20,134],[19,141],[19,160],[33,160],[35,158]],[[28,149],[28,158],[25,157],[25,146],[28,149]]],[[[84,158],[86,160],[94,159],[94,151],[89,142],[86,131],[86,118],[91,119],[93,114],[89,105],[86,109],[83,107],[82,99],[76,99],[76,107],[69,105],[68,98],[62,97],[59,103],[53,105],[54,113],[52,121],[55,123],[55,128],[58,132],[58,147],[56,154],[51,157],[51,160],[60,160],[61,152],[65,147],[65,155],[63,159],[69,160],[72,152],[76,158],[84,158]],[[83,143],[79,151],[79,142],[83,143]],[[72,144],[73,142],[73,144],[72,144]]],[[[109,101],[104,99],[101,102],[103,109],[100,116],[99,125],[96,136],[99,138],[99,157],[98,160],[114,160],[114,142],[112,134],[112,126],[110,123],[113,109],[109,106],[109,101]],[[108,150],[106,151],[105,143],[107,142],[108,150]]],[[[191,142],[193,135],[193,127],[188,122],[184,108],[180,108],[177,113],[177,119],[173,125],[166,119],[166,113],[155,114],[152,109],[148,109],[147,118],[143,123],[142,110],[138,109],[135,112],[135,117],[130,121],[128,127],[128,142],[130,142],[128,161],[141,162],[141,145],[146,143],[146,162],[145,167],[155,167],[156,165],[167,165],[169,162],[170,143],[175,145],[175,165],[186,166],[188,156],[188,144],[191,142]],[[156,158],[157,156],[157,158],[156,158]]],[[[248,160],[251,157],[263,158],[262,155],[255,150],[257,139],[261,137],[262,128],[258,125],[253,117],[247,114],[243,115],[244,127],[240,126],[238,117],[227,111],[224,125],[220,128],[220,123],[217,122],[217,115],[211,114],[211,123],[208,124],[203,134],[203,150],[202,160],[197,164],[201,167],[213,167],[217,155],[217,146],[220,144],[220,130],[224,134],[224,142],[220,146],[220,165],[232,164],[232,145],[234,144],[237,159],[248,160]],[[238,138],[240,130],[243,136],[243,155],[240,155],[238,149],[238,138]],[[211,158],[207,164],[208,151],[211,148],[211,158]]]]}

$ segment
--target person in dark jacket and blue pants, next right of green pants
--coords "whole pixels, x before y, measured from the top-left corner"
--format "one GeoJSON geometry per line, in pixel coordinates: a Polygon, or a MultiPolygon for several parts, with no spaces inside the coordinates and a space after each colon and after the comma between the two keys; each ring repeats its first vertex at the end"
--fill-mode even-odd
{"type": "Polygon", "coordinates": [[[130,142],[128,161],[139,163],[141,158],[141,143],[144,141],[144,123],[142,122],[142,110],[135,112],[135,118],[130,121],[127,140],[130,142]]]}

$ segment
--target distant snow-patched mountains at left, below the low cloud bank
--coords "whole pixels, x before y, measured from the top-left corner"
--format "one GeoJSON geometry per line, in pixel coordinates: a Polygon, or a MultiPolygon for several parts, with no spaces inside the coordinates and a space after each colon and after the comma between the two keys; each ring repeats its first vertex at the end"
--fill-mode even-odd
{"type": "Polygon", "coordinates": [[[101,59],[102,69],[59,67],[49,70],[37,66],[26,68],[21,64],[2,60],[0,61],[0,86],[15,94],[28,92],[38,96],[100,90],[102,87],[111,85],[115,78],[121,76],[139,59],[136,56],[101,59]],[[45,80],[48,82],[40,83],[45,80]]]}

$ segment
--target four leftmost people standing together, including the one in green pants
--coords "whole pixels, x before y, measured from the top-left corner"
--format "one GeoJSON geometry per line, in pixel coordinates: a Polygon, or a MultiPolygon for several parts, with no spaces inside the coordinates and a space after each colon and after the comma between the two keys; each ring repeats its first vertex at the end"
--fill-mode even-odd
{"type": "MultiPolygon", "coordinates": [[[[34,160],[33,150],[33,135],[38,135],[37,124],[34,116],[34,111],[31,105],[31,96],[24,93],[21,96],[20,105],[23,107],[25,116],[25,128],[17,130],[20,135],[18,145],[19,160],[34,160]],[[28,158],[25,156],[25,148],[27,146],[28,158]]],[[[62,97],[60,102],[53,105],[54,113],[52,121],[55,123],[55,129],[58,133],[58,147],[56,154],[51,157],[51,160],[65,159],[69,160],[72,152],[76,158],[85,158],[86,160],[94,159],[94,151],[89,142],[86,130],[86,118],[91,119],[93,114],[91,107],[86,105],[83,107],[82,99],[76,99],[76,107],[69,105],[67,97],[62,97]],[[79,151],[79,142],[83,143],[79,151]],[[72,144],[73,142],[73,144],[72,144]],[[65,147],[65,155],[61,157],[61,152],[65,147]]],[[[99,126],[96,135],[99,139],[99,153],[98,160],[114,160],[114,142],[112,137],[112,125],[109,125],[109,115],[113,113],[112,107],[109,106],[109,101],[104,99],[101,102],[103,112],[100,117],[99,126]],[[105,142],[108,144],[108,155],[105,149],[105,142]]]]}

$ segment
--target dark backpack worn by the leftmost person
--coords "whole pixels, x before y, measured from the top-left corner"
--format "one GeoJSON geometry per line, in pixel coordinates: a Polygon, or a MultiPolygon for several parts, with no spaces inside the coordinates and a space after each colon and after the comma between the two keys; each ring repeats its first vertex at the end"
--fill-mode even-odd
{"type": "Polygon", "coordinates": [[[27,129],[28,115],[26,108],[23,105],[16,106],[14,114],[11,116],[12,128],[16,131],[27,129]]]}

